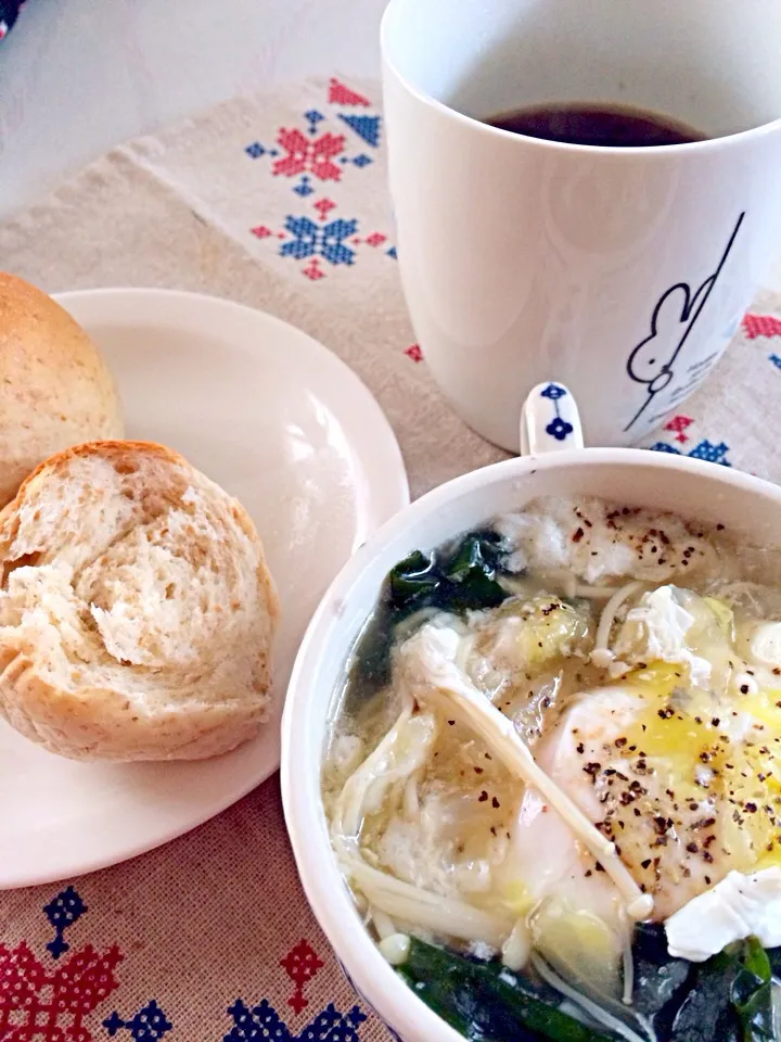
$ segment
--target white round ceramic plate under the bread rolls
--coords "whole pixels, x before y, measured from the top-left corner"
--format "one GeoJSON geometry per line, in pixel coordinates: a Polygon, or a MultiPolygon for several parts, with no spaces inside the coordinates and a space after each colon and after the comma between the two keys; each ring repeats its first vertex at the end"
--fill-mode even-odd
{"type": "Polygon", "coordinates": [[[116,864],[225,810],[279,766],[293,659],[350,554],[409,501],[393,432],[317,341],[228,301],[65,293],[117,381],[129,437],[163,442],[238,496],[277,580],[274,707],[257,739],[197,763],[75,763],[0,724],[0,888],[116,864]]]}

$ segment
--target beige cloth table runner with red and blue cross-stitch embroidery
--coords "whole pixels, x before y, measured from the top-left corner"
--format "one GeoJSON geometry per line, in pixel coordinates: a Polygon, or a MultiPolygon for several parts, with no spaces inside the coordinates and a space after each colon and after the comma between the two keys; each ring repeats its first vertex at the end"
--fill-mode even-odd
{"type": "MultiPolygon", "coordinates": [[[[385,177],[377,86],[310,80],[115,149],[0,228],[0,268],[49,292],[222,295],[305,329],[372,390],[417,496],[502,454],[426,372],[385,177]]],[[[780,480],[780,397],[781,293],[767,291],[648,445],[780,480]]],[[[0,893],[1,1042],[108,1038],[389,1042],[308,910],[277,778],[126,864],[0,893]]]]}

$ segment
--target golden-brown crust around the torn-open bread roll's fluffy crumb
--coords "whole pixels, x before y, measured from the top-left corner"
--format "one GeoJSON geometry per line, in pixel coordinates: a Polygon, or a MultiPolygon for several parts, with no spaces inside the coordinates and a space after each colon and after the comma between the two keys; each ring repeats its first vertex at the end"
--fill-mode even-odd
{"type": "MultiPolygon", "coordinates": [[[[218,755],[253,737],[267,715],[271,687],[271,641],[279,618],[279,602],[260,539],[255,526],[238,500],[228,496],[178,453],[154,442],[103,441],[86,443],[64,449],[42,462],[23,482],[15,498],[0,511],[0,564],[3,567],[0,590],[0,623],[2,602],[10,598],[9,577],[15,567],[28,569],[13,561],[12,549],[20,532],[21,518],[34,496],[47,495],[48,490],[68,481],[74,461],[100,460],[114,467],[117,473],[131,475],[140,466],[155,463],[171,470],[171,488],[150,488],[157,496],[154,509],[170,509],[184,490],[195,487],[210,500],[213,513],[222,511],[223,536],[230,548],[244,547],[254,568],[253,615],[241,625],[226,630],[226,646],[204,649],[204,661],[194,670],[196,683],[189,677],[187,697],[177,692],[176,671],[112,662],[115,675],[127,677],[126,688],[118,684],[89,682],[90,663],[81,669],[73,664],[72,672],[81,679],[67,685],[52,675],[47,666],[38,631],[24,624],[0,624],[0,714],[25,737],[52,752],[76,760],[196,760],[218,755]],[[246,538],[236,536],[233,525],[246,538]],[[230,641],[233,641],[231,645],[230,641]],[[207,660],[206,656],[212,659],[207,660]],[[218,665],[234,656],[241,669],[220,675],[236,676],[242,685],[232,690],[212,690],[217,684],[218,665]],[[138,672],[136,672],[138,671],[138,672]],[[133,681],[142,676],[145,685],[156,683],[159,675],[159,695],[143,704],[135,696],[133,681]],[[152,681],[150,681],[152,677],[152,681]],[[192,689],[192,690],[191,690],[192,689]],[[206,694],[209,697],[206,698],[206,694]],[[203,696],[203,697],[202,697],[203,696]]],[[[38,501],[38,500],[36,500],[38,501]]],[[[43,541],[46,542],[46,541],[43,541]]],[[[225,547],[207,547],[215,556],[225,547]]],[[[232,549],[232,552],[238,552],[232,549]]],[[[42,561],[56,564],[57,554],[41,550],[42,561]]],[[[233,561],[233,564],[236,562],[233,561]]],[[[243,566],[244,561],[239,562],[243,566]]],[[[5,611],[8,614],[8,611],[5,611]]],[[[88,620],[89,621],[89,620],[88,620]]]]}

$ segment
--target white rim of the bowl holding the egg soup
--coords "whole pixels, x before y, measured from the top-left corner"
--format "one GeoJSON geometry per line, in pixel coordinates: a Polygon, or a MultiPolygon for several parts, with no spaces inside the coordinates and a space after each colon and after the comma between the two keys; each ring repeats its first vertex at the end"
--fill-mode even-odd
{"type": "MultiPolygon", "coordinates": [[[[320,799],[322,750],[315,768],[312,758],[307,762],[305,748],[312,709],[322,710],[324,723],[333,695],[329,690],[328,698],[324,698],[319,691],[319,660],[331,636],[334,618],[342,615],[347,598],[360,586],[367,566],[406,530],[414,528],[452,499],[476,490],[487,490],[508,478],[530,475],[538,470],[567,469],[578,463],[629,463],[644,470],[691,473],[725,485],[733,494],[746,492],[776,500],[781,508],[781,486],[743,471],[671,453],[654,453],[642,448],[579,448],[502,460],[461,474],[425,493],[386,521],[359,547],[318,605],[293,666],[282,716],[281,791],[285,824],[302,886],[315,917],[356,991],[382,1020],[401,1032],[401,1038],[407,1042],[464,1040],[394,973],[361,923],[340,873],[320,799]],[[311,799],[312,778],[316,778],[315,799],[311,799]]],[[[486,514],[490,516],[489,506],[486,514]]]]}

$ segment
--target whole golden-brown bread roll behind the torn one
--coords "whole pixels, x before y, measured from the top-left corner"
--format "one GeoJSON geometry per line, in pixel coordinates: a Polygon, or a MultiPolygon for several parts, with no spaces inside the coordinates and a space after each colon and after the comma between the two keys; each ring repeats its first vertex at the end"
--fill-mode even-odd
{"type": "Polygon", "coordinates": [[[0,507],[53,453],[124,433],[92,341],[50,296],[0,271],[0,507]]]}

